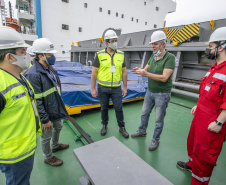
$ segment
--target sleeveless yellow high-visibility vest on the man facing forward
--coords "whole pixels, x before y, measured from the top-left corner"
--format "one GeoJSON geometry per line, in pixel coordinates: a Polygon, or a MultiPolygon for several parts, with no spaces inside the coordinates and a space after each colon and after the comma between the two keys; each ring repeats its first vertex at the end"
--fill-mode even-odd
{"type": "Polygon", "coordinates": [[[118,87],[121,85],[122,64],[124,62],[124,52],[116,50],[113,58],[104,50],[97,52],[100,62],[98,69],[97,83],[107,87],[118,87]],[[111,66],[115,68],[112,73],[111,66]]]}

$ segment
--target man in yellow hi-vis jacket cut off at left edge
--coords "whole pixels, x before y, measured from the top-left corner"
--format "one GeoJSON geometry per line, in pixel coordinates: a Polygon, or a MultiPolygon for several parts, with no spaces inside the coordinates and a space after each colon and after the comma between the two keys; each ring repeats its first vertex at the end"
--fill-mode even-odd
{"type": "Polygon", "coordinates": [[[41,134],[34,91],[20,73],[29,67],[28,44],[10,27],[0,27],[0,170],[6,184],[30,184],[36,134],[41,134]]]}

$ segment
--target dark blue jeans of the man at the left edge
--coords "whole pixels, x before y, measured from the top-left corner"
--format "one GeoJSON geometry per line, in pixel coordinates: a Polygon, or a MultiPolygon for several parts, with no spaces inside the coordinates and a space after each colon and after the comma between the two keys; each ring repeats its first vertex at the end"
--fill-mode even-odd
{"type": "Polygon", "coordinates": [[[6,185],[29,185],[33,164],[34,154],[14,164],[0,163],[0,170],[5,173],[6,185]]]}

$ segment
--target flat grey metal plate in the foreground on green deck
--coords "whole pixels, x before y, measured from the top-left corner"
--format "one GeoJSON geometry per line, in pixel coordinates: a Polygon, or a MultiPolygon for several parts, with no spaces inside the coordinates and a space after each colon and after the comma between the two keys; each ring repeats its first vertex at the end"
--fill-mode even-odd
{"type": "Polygon", "coordinates": [[[172,185],[115,137],[74,150],[94,185],[172,185]]]}

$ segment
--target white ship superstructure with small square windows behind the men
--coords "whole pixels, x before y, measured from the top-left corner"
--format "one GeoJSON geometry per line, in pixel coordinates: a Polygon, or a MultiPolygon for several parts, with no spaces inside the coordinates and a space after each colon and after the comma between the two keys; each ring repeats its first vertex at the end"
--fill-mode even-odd
{"type": "Polygon", "coordinates": [[[36,0],[35,5],[38,36],[54,43],[58,60],[70,59],[72,42],[100,38],[107,28],[122,34],[162,28],[167,13],[176,10],[172,0],[36,0]]]}

